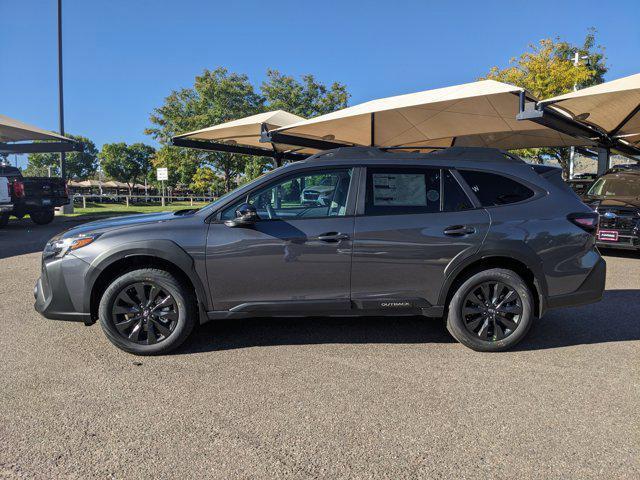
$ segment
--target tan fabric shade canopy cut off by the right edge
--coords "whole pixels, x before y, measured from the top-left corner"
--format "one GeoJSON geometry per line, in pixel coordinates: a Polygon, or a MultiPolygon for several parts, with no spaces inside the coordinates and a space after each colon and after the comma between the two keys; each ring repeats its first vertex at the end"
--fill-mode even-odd
{"type": "Polygon", "coordinates": [[[549,98],[543,105],[640,145],[640,73],[549,98]]]}

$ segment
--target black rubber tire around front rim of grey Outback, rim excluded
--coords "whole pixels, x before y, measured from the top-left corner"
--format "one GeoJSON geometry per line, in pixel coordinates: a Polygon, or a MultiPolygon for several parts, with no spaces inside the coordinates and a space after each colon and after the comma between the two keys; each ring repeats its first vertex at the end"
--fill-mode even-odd
{"type": "Polygon", "coordinates": [[[107,338],[118,348],[137,355],[155,355],[167,353],[177,348],[193,329],[192,302],[184,286],[168,272],[162,270],[134,270],[118,277],[107,287],[99,306],[100,325],[107,338]],[[166,289],[174,298],[178,309],[178,321],[169,338],[153,345],[142,345],[122,337],[116,329],[112,308],[118,294],[127,286],[139,282],[151,282],[166,289]]]}

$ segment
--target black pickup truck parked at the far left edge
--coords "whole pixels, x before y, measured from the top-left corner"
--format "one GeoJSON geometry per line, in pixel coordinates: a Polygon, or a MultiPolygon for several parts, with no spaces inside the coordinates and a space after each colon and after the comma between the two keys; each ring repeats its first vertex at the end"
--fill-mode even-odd
{"type": "Polygon", "coordinates": [[[20,169],[0,164],[0,177],[7,179],[11,194],[11,210],[0,213],[0,227],[11,215],[22,218],[29,215],[38,225],[53,220],[56,207],[69,203],[67,184],[61,178],[23,177],[20,169]]]}

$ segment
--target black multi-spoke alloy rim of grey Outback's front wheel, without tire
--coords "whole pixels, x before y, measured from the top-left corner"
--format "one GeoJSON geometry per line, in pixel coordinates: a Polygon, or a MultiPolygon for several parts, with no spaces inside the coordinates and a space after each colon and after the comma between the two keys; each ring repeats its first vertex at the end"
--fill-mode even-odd
{"type": "Polygon", "coordinates": [[[178,323],[174,297],[160,285],[149,281],[124,287],[113,302],[111,315],[118,333],[140,345],[163,342],[178,323]]]}

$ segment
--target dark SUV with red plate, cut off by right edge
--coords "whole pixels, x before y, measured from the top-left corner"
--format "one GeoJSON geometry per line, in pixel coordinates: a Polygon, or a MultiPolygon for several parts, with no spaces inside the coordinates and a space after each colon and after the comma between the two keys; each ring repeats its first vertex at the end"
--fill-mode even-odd
{"type": "Polygon", "coordinates": [[[608,170],[583,200],[600,214],[599,246],[640,250],[640,168],[608,170]]]}

